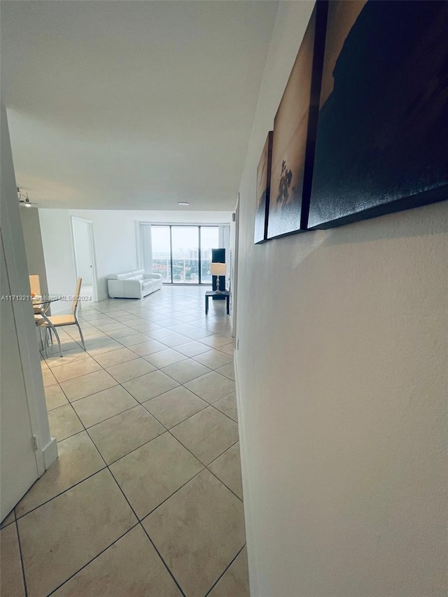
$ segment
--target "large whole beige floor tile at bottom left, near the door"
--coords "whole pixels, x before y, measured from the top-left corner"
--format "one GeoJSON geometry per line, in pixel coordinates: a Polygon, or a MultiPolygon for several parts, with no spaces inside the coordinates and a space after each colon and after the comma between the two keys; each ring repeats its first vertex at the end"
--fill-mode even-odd
{"type": "Polygon", "coordinates": [[[29,597],[48,595],[136,523],[109,470],[18,521],[29,597]]]}

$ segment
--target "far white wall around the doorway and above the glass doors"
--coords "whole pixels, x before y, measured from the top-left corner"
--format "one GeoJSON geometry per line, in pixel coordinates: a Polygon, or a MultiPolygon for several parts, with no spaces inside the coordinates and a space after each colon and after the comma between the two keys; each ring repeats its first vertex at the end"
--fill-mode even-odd
{"type": "MultiPolygon", "coordinates": [[[[97,209],[39,209],[45,264],[50,293],[71,295],[76,282],[70,216],[93,222],[94,258],[97,269],[98,300],[108,297],[107,276],[137,269],[139,260],[138,223],[222,224],[230,223],[228,211],[132,211],[97,209]],[[69,232],[67,232],[69,230],[69,232]],[[67,235],[68,234],[68,235],[67,235]],[[73,286],[73,288],[71,288],[73,286]]],[[[62,303],[52,308],[61,311],[62,303]]]]}

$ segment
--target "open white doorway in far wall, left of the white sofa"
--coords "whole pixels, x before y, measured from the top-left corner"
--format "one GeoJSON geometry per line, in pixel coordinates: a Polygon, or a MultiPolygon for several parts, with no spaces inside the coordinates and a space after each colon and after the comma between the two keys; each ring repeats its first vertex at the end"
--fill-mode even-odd
{"type": "Polygon", "coordinates": [[[97,274],[94,262],[92,221],[71,216],[71,230],[73,233],[76,279],[83,279],[80,300],[96,302],[98,300],[97,274]]]}

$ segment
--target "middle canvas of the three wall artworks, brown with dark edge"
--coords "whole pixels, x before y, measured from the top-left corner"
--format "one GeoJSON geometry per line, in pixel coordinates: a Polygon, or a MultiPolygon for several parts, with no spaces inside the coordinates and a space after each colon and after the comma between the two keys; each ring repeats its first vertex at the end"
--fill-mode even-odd
{"type": "Polygon", "coordinates": [[[306,228],[327,4],[314,7],[275,116],[268,239],[306,228]]]}

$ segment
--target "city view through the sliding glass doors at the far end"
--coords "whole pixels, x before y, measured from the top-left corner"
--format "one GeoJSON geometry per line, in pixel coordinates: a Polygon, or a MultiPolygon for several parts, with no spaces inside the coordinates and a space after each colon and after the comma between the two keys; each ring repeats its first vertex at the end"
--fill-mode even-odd
{"type": "Polygon", "coordinates": [[[153,272],[162,281],[211,284],[211,249],[218,226],[151,226],[153,272]]]}

